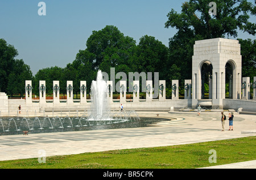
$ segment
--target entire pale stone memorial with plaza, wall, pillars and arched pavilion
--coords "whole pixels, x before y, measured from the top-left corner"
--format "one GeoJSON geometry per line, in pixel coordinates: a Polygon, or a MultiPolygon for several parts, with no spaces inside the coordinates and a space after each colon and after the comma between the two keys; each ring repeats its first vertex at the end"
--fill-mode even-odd
{"type": "MultiPolygon", "coordinates": [[[[108,89],[104,91],[106,99],[102,99],[102,101],[98,101],[100,96],[93,97],[94,101],[86,99],[86,81],[80,81],[80,99],[76,100],[73,99],[72,81],[67,81],[67,99],[60,99],[59,81],[53,81],[52,87],[50,87],[53,89],[53,99],[51,100],[46,99],[46,88],[48,88],[46,87],[46,81],[40,81],[40,99],[35,100],[32,99],[32,91],[34,91],[31,86],[32,81],[27,80],[24,82],[26,99],[8,99],[5,93],[0,93],[1,116],[28,117],[28,114],[30,116],[35,114],[35,117],[46,117],[47,115],[55,116],[56,112],[70,116],[72,112],[81,117],[82,113],[89,110],[93,104],[101,102],[96,104],[97,113],[93,117],[94,120],[107,118],[104,117],[104,114],[100,114],[98,110],[109,106],[110,111],[119,111],[120,104],[123,106],[123,111],[136,111],[140,118],[163,118],[169,120],[137,128],[94,129],[93,131],[54,133],[28,132],[27,136],[4,135],[0,136],[0,161],[36,158],[39,150],[44,150],[46,156],[56,156],[255,136],[256,77],[253,78],[253,82],[251,82],[250,77],[242,77],[240,51],[238,40],[216,38],[196,41],[192,57],[192,79],[184,79],[184,98],[182,99],[179,98],[180,79],[173,79],[171,82],[171,99],[166,99],[166,80],[154,79],[153,81],[152,79],[147,79],[146,82],[140,83],[135,80],[128,83],[127,79],[122,79],[116,85],[114,81],[101,80],[104,85],[96,86],[93,90],[108,89]],[[228,66],[230,68],[229,72],[226,71],[228,66]],[[202,74],[207,74],[207,78],[202,74]],[[225,79],[226,75],[229,77],[228,80],[225,79]],[[204,84],[206,81],[209,84],[208,98],[204,96],[204,84]],[[228,98],[225,97],[226,81],[229,82],[228,98]],[[142,84],[146,89],[144,91],[146,92],[146,99],[140,99],[139,97],[139,93],[141,93],[141,87],[139,86],[142,86],[142,84]],[[126,99],[128,89],[129,92],[133,92],[133,99],[126,99]],[[118,101],[113,99],[115,90],[119,90],[120,93],[118,101]],[[155,98],[154,95],[157,95],[158,98],[155,98]],[[107,104],[106,102],[109,103],[107,104]],[[18,114],[18,106],[20,104],[22,106],[22,114],[18,114]],[[198,107],[203,108],[200,115],[197,114],[198,107]],[[222,131],[222,111],[227,117],[225,131],[222,131]],[[234,115],[233,131],[228,131],[229,113],[234,115]]],[[[97,80],[97,82],[100,81],[97,80]]],[[[15,120],[10,119],[11,121],[15,122],[15,120]]],[[[9,130],[9,127],[10,123],[5,129],[8,128],[7,130],[9,130]]],[[[5,129],[3,128],[3,131],[5,129]]],[[[18,131],[17,127],[16,131],[18,131]]],[[[226,165],[220,168],[230,167],[256,168],[256,161],[226,165]]]]}

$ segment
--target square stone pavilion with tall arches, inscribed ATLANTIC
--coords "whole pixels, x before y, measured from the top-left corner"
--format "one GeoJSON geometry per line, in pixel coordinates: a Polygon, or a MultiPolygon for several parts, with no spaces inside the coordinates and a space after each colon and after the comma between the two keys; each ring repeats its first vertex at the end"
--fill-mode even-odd
{"type": "Polygon", "coordinates": [[[241,72],[238,40],[216,38],[196,41],[192,57],[192,108],[199,104],[223,108],[222,99],[226,94],[227,98],[241,99],[241,72]]]}

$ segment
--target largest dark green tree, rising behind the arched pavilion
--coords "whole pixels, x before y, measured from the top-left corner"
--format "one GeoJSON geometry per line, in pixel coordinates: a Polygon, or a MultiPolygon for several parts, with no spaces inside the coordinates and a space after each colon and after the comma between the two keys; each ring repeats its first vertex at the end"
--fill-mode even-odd
{"type": "Polygon", "coordinates": [[[211,1],[189,0],[181,6],[180,14],[172,9],[167,15],[165,27],[177,30],[169,42],[169,66],[179,65],[185,72],[181,73],[182,79],[191,79],[193,44],[196,40],[237,37],[238,29],[255,35],[255,23],[249,22],[250,14],[255,15],[255,6],[250,2],[216,0],[216,16],[209,14],[209,2],[211,1]]]}

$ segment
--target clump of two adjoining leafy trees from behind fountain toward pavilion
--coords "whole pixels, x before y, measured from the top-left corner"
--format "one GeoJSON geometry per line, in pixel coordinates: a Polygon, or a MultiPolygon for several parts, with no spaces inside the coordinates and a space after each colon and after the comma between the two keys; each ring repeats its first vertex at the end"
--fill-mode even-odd
{"type": "MultiPolygon", "coordinates": [[[[124,36],[115,26],[106,26],[100,31],[93,31],[86,41],[87,48],[80,50],[72,63],[72,66],[78,69],[76,79],[79,81],[86,79],[87,90],[95,79],[98,69],[109,75],[110,68],[115,68],[116,73],[126,74],[160,72],[162,79],[165,79],[168,73],[166,69],[168,48],[155,37],[148,35],[143,36],[138,45],[135,43],[133,38],[124,36]]],[[[119,79],[115,80],[119,81],[119,79]]]]}

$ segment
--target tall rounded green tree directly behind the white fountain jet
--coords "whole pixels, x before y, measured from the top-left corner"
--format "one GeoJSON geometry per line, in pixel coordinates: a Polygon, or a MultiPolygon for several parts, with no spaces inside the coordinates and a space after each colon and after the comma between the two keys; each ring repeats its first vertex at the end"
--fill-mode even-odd
{"type": "Polygon", "coordinates": [[[77,79],[86,79],[89,93],[91,82],[99,69],[110,74],[110,68],[115,68],[115,72],[128,74],[135,48],[136,41],[124,36],[115,26],[93,31],[86,41],[86,49],[80,50],[72,63],[76,69],[84,70],[78,72],[77,79]]]}

